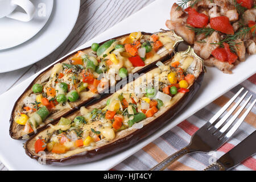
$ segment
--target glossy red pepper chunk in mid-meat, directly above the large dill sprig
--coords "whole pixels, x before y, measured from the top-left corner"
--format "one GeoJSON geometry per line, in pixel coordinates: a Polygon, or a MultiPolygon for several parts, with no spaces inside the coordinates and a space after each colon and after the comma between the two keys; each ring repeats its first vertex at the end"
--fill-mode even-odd
{"type": "Polygon", "coordinates": [[[210,27],[224,34],[234,35],[234,28],[226,16],[217,16],[210,19],[210,27]]]}

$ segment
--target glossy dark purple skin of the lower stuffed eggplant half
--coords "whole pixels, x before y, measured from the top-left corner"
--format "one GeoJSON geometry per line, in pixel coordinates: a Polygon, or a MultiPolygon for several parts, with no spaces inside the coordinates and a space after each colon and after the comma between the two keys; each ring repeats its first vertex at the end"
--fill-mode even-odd
{"type": "MultiPolygon", "coordinates": [[[[189,88],[189,92],[185,93],[184,96],[175,105],[170,107],[170,109],[168,109],[165,113],[154,119],[154,121],[151,121],[147,125],[143,126],[142,129],[136,130],[130,135],[127,135],[126,137],[123,137],[113,143],[99,147],[96,150],[87,151],[85,154],[76,154],[63,159],[44,159],[45,164],[52,166],[67,166],[72,164],[94,162],[96,160],[106,158],[107,156],[113,155],[117,152],[121,152],[126,148],[133,146],[140,140],[150,136],[161,127],[164,127],[165,125],[170,123],[172,119],[181,110],[183,110],[184,107],[189,103],[189,101],[191,101],[191,99],[195,96],[197,91],[200,89],[203,78],[204,71],[201,71],[200,75],[196,78],[193,85],[189,88]]],[[[32,138],[27,140],[27,142],[24,144],[26,154],[32,159],[38,161],[42,160],[39,156],[32,155],[30,152],[28,152],[27,143],[30,142],[31,139],[32,138]]]]}

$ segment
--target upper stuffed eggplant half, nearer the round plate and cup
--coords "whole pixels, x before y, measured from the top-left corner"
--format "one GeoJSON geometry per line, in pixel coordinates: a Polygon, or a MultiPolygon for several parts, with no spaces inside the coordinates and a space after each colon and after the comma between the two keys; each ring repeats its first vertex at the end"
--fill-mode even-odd
{"type": "Polygon", "coordinates": [[[48,123],[93,101],[129,73],[144,72],[170,59],[182,39],[172,31],[133,32],[93,43],[41,73],[19,97],[11,114],[10,135],[27,139],[48,123]]]}

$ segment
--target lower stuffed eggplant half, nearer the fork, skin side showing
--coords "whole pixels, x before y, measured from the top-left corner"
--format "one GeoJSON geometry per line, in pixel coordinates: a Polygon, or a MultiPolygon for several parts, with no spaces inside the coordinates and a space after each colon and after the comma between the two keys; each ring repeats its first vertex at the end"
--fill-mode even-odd
{"type": "Polygon", "coordinates": [[[44,164],[67,165],[121,151],[164,126],[188,104],[203,81],[203,68],[193,49],[177,52],[111,96],[49,124],[27,140],[26,154],[44,164]]]}

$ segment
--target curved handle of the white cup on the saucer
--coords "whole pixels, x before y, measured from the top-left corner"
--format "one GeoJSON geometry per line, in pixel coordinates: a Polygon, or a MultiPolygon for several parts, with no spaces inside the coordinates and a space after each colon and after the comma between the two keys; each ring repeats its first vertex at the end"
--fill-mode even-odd
{"type": "Polygon", "coordinates": [[[8,18],[13,18],[16,20],[20,20],[22,22],[30,21],[35,14],[35,6],[29,0],[12,0],[11,3],[13,5],[18,5],[26,11],[26,13],[22,13],[19,11],[13,11],[13,13],[7,15],[8,18]]]}

